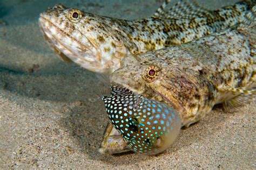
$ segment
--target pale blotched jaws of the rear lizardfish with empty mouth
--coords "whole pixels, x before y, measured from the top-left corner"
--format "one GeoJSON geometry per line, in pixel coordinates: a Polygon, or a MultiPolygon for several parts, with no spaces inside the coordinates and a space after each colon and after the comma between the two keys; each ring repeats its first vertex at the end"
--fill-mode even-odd
{"type": "Polygon", "coordinates": [[[95,70],[100,72],[105,69],[105,65],[100,61],[100,53],[97,48],[82,33],[79,32],[87,45],[82,44],[69,32],[64,31],[46,18],[44,13],[41,13],[38,23],[45,40],[49,42],[51,48],[58,54],[60,59],[67,62],[76,62],[78,65],[93,72],[95,70]],[[69,42],[72,42],[72,45],[69,42]]]}

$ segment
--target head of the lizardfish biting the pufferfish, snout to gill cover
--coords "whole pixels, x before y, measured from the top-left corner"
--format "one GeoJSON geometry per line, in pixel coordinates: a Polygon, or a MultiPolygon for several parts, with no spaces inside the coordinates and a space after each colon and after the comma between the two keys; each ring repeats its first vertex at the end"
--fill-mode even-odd
{"type": "Polygon", "coordinates": [[[120,68],[110,75],[110,82],[150,100],[171,104],[183,115],[182,126],[189,126],[204,116],[198,113],[213,107],[212,103],[204,104],[215,95],[215,91],[208,90],[212,85],[201,75],[204,70],[206,67],[191,59],[184,49],[173,46],[125,56],[120,68]]]}

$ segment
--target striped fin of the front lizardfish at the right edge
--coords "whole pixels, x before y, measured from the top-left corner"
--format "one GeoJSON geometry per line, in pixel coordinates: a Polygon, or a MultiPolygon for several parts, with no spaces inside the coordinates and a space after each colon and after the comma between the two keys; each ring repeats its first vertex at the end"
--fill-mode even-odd
{"type": "Polygon", "coordinates": [[[223,107],[226,111],[238,108],[240,105],[256,101],[256,89],[247,90],[246,88],[231,88],[227,87],[222,90],[231,92],[234,97],[223,102],[223,107]]]}

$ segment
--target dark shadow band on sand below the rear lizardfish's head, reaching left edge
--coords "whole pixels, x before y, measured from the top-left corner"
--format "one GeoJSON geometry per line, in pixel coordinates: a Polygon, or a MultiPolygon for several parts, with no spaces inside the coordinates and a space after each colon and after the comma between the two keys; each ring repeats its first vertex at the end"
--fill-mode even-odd
{"type": "Polygon", "coordinates": [[[35,69],[36,67],[29,72],[22,72],[0,65],[0,88],[24,97],[46,101],[73,102],[95,97],[89,96],[90,93],[87,92],[90,84],[97,80],[84,69],[70,67],[66,73],[37,73],[35,69]]]}

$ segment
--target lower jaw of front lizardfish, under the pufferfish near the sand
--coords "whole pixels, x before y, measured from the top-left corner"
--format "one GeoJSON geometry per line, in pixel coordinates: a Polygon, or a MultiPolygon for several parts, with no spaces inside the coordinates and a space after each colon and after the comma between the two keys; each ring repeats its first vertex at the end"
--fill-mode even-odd
{"type": "Polygon", "coordinates": [[[131,151],[124,141],[121,133],[119,133],[111,123],[106,127],[104,140],[99,148],[99,153],[114,154],[131,151]]]}

